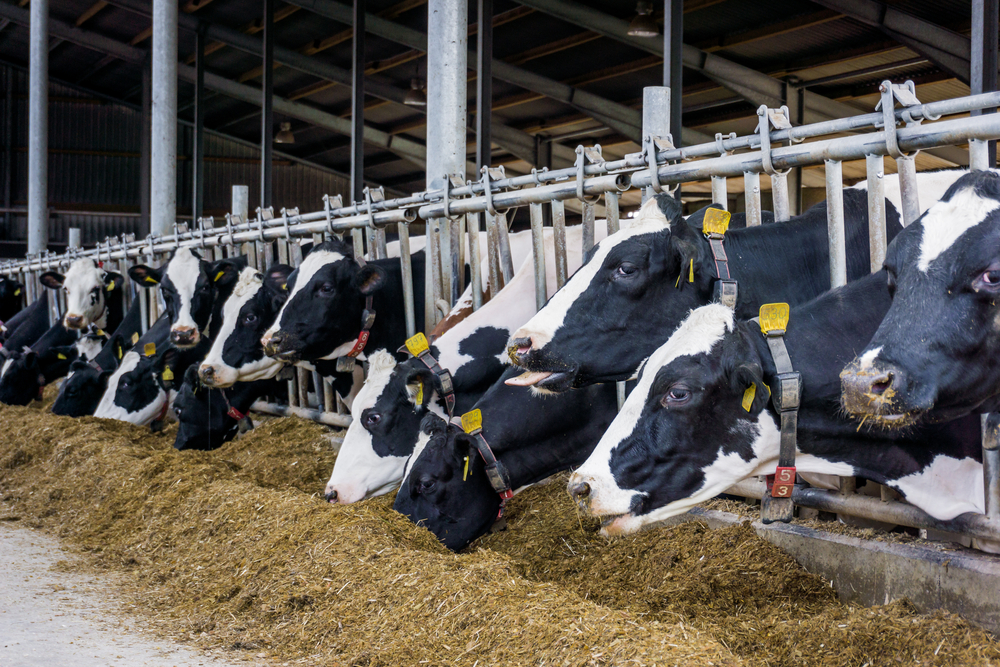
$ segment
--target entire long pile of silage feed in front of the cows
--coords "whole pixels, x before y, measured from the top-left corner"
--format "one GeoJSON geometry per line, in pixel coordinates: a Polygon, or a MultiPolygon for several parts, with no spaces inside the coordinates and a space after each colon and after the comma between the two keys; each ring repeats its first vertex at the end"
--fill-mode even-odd
{"type": "Polygon", "coordinates": [[[0,519],[122,573],[123,609],[206,646],[329,665],[985,665],[985,632],[838,603],[746,526],[616,540],[563,481],[464,554],[392,511],[331,507],[328,431],[267,421],[216,452],[172,431],[0,407],[0,519]]]}

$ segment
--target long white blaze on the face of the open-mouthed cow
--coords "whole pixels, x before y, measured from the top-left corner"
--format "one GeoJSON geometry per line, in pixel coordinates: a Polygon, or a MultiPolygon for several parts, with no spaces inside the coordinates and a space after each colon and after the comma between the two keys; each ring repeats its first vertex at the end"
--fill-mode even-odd
{"type": "Polygon", "coordinates": [[[604,260],[615,246],[634,236],[651,234],[664,229],[670,229],[670,221],[657,207],[655,199],[651,198],[639,209],[639,215],[633,219],[632,224],[597,244],[590,261],[581,266],[534,317],[514,332],[513,337],[530,336],[534,349],[545,347],[555,336],[562,323],[566,321],[569,309],[590,287],[594,276],[604,266],[604,260]]]}

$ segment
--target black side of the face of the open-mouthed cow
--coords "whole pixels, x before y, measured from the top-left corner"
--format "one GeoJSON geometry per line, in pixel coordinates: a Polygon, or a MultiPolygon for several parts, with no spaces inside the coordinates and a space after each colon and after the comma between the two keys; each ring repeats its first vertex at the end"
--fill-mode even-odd
{"type": "Polygon", "coordinates": [[[612,248],[552,340],[515,359],[527,370],[555,373],[539,387],[563,391],[627,379],[692,308],[711,301],[715,269],[706,263],[707,242],[681,221],[672,227],[612,248]]]}

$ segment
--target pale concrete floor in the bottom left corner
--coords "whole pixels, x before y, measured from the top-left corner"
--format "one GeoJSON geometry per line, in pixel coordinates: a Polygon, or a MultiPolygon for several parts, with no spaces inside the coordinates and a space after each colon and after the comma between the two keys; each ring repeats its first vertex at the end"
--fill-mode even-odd
{"type": "MultiPolygon", "coordinates": [[[[109,582],[53,568],[75,557],[55,538],[0,524],[0,667],[230,667],[222,659],[144,633],[138,618],[112,613],[109,582]]],[[[263,663],[263,661],[259,661],[263,663]]]]}

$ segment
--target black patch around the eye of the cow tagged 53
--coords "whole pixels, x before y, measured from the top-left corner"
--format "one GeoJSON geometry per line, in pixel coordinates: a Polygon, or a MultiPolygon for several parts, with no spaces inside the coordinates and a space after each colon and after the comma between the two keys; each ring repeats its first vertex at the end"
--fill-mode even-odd
{"type": "Polygon", "coordinates": [[[657,370],[632,433],[611,450],[615,483],[636,492],[632,513],[694,495],[706,483],[705,469],[722,455],[752,460],[768,396],[760,365],[739,333],[727,334],[709,354],[680,356],[657,370]],[[756,393],[747,412],[741,401],[751,384],[756,393]]]}

